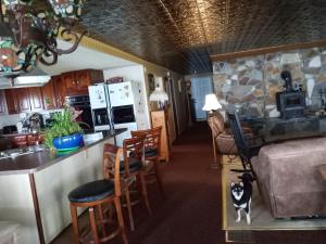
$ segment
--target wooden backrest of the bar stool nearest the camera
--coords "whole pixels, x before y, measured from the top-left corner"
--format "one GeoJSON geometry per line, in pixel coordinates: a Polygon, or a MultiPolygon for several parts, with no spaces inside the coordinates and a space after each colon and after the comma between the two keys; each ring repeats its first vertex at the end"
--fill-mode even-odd
{"type": "Polygon", "coordinates": [[[103,149],[103,175],[104,179],[114,180],[115,195],[121,195],[120,163],[123,155],[123,149],[116,145],[105,143],[103,149]]]}

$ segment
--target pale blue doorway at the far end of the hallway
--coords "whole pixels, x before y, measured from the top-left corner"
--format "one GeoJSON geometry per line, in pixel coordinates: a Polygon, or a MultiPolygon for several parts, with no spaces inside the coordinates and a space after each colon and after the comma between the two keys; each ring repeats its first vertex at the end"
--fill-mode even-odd
{"type": "Polygon", "coordinates": [[[206,119],[206,112],[202,110],[205,95],[213,93],[213,80],[212,77],[195,77],[191,78],[191,105],[192,110],[192,118],[196,120],[204,120],[206,119]]]}

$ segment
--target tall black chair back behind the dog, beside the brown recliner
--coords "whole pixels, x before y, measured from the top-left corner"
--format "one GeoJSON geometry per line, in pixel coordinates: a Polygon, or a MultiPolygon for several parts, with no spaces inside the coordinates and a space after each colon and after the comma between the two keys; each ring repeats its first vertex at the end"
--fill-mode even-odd
{"type": "Polygon", "coordinates": [[[227,117],[229,120],[229,126],[233,131],[234,138],[236,145],[238,147],[238,152],[240,157],[248,158],[249,156],[249,145],[248,142],[246,141],[243,130],[238,117],[237,113],[227,113],[227,117]]]}

